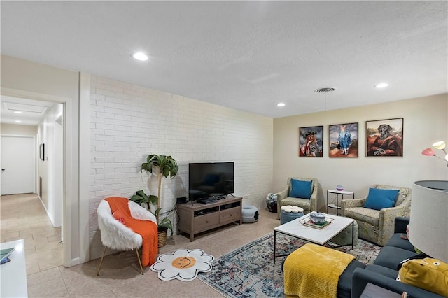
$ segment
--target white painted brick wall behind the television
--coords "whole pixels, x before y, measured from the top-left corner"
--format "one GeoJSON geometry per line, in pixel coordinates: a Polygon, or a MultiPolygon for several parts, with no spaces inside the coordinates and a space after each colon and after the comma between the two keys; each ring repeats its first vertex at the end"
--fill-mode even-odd
{"type": "Polygon", "coordinates": [[[157,177],[140,171],[149,154],[172,155],[179,164],[174,179],[162,178],[164,211],[187,195],[189,162],[235,162],[235,194],[265,208],[272,140],[272,118],[92,76],[90,258],[102,253],[96,213],[102,199],[137,190],[157,195],[157,177]]]}

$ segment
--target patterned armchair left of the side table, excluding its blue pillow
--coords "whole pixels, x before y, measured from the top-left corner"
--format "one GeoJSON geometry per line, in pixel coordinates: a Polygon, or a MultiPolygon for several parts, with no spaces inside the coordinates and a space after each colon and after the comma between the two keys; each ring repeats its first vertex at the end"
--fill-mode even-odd
{"type": "Polygon", "coordinates": [[[316,211],[317,206],[317,186],[318,180],[314,178],[296,178],[289,177],[286,183],[286,189],[277,194],[277,218],[280,219],[281,206],[291,205],[303,208],[304,213],[316,211]],[[291,179],[299,181],[311,181],[311,197],[302,199],[300,197],[290,197],[291,179]]]}

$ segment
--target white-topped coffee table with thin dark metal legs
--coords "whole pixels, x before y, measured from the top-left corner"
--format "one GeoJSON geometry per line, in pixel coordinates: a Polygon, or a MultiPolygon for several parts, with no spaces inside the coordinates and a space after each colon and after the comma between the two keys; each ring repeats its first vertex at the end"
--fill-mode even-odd
{"type": "MultiPolygon", "coordinates": [[[[300,222],[300,220],[309,218],[309,214],[303,215],[300,218],[296,218],[295,220],[291,220],[290,222],[286,222],[285,224],[279,225],[279,227],[274,228],[274,264],[276,257],[284,256],[275,255],[277,233],[287,234],[289,236],[293,236],[323,246],[333,237],[337,236],[337,234],[344,231],[346,227],[349,227],[349,225],[351,225],[351,247],[353,248],[353,222],[355,220],[353,220],[353,218],[343,218],[342,216],[328,214],[325,215],[327,218],[332,219],[332,222],[329,225],[323,227],[323,229],[315,229],[313,227],[302,225],[302,222],[300,222]]],[[[335,248],[340,246],[332,247],[335,248]]]]}

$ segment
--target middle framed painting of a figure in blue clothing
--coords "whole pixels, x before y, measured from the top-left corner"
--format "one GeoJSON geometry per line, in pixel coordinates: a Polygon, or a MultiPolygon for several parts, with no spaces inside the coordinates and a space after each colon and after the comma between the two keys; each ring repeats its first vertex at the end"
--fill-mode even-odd
{"type": "Polygon", "coordinates": [[[358,157],[358,122],[330,125],[328,157],[358,157]]]}

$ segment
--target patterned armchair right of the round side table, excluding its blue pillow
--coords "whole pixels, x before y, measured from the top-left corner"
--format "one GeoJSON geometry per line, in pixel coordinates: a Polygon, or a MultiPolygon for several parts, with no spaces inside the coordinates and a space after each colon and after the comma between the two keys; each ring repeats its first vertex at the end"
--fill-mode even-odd
{"type": "Polygon", "coordinates": [[[385,246],[394,233],[396,217],[409,218],[411,211],[412,190],[407,187],[391,185],[373,185],[381,190],[399,190],[392,207],[375,210],[365,208],[365,199],[344,199],[341,202],[342,216],[353,218],[358,222],[358,237],[385,246]]]}

